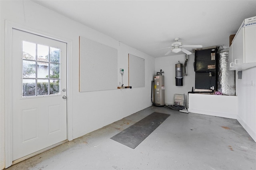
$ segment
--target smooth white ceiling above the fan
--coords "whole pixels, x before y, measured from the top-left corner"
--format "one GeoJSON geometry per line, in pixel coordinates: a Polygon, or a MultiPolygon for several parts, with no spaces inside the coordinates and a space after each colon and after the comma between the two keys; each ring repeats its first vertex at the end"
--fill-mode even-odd
{"type": "Polygon", "coordinates": [[[168,49],[154,50],[176,37],[203,48],[228,44],[242,21],[256,16],[256,0],[34,1],[153,57],[164,56],[168,49]]]}

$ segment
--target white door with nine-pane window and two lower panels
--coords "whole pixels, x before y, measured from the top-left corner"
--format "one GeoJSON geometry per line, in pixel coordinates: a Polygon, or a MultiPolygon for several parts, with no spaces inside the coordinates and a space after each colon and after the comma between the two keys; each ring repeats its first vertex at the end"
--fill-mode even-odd
{"type": "Polygon", "coordinates": [[[12,160],[67,139],[66,48],[12,29],[12,160]]]}

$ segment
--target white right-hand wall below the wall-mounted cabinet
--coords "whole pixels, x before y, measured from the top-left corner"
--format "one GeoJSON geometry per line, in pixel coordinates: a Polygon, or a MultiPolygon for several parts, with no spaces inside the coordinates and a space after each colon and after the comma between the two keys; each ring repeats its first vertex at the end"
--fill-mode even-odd
{"type": "Polygon", "coordinates": [[[236,95],[238,96],[238,121],[256,142],[256,67],[242,71],[238,79],[236,71],[236,95]]]}

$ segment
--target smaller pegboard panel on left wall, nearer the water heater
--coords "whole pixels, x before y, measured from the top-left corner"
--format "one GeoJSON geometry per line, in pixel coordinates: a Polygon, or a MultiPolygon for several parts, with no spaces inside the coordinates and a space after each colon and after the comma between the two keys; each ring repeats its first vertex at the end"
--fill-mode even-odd
{"type": "Polygon", "coordinates": [[[145,87],[145,59],[128,54],[129,86],[145,87]]]}

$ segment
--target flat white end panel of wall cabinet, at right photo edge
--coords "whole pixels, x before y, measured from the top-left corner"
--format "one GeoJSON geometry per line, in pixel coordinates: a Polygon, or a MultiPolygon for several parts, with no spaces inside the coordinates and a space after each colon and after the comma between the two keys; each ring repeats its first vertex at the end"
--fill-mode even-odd
{"type": "Polygon", "coordinates": [[[244,28],[245,63],[256,62],[256,26],[244,28]]]}

